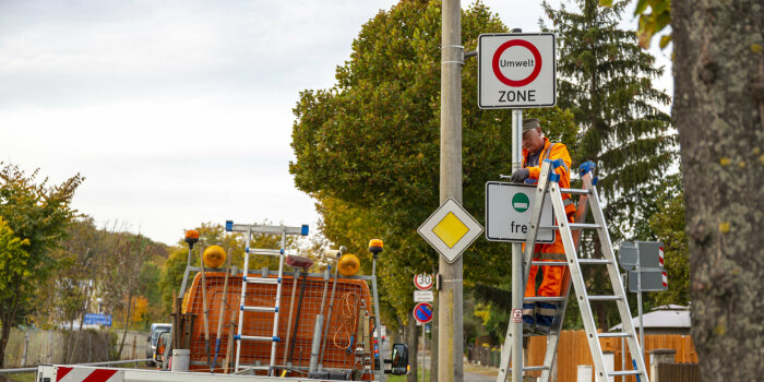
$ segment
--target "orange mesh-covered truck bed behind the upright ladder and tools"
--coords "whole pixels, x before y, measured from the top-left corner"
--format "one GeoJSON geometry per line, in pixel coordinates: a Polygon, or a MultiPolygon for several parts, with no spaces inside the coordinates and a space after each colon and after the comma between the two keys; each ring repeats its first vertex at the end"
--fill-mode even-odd
{"type": "MultiPolygon", "coordinates": [[[[252,277],[253,274],[250,274],[252,277]]],[[[207,272],[206,273],[206,293],[210,311],[210,348],[214,356],[215,338],[218,324],[218,314],[220,303],[223,302],[223,284],[225,273],[207,272]]],[[[270,276],[276,277],[276,276],[270,276]]],[[[228,280],[228,306],[234,307],[237,311],[234,314],[235,322],[238,321],[239,306],[241,296],[241,275],[231,276],[228,280]]],[[[326,300],[324,305],[324,321],[329,314],[330,297],[332,293],[332,282],[330,279],[329,290],[326,291],[326,300]]],[[[204,324],[203,324],[203,308],[202,308],[202,277],[196,274],[191,284],[191,288],[184,301],[184,312],[196,314],[196,320],[193,325],[191,336],[191,357],[190,370],[204,371],[208,370],[206,361],[206,353],[204,347],[204,324]]],[[[284,354],[287,349],[287,323],[289,321],[289,306],[291,303],[291,289],[295,280],[290,275],[285,275],[282,280],[282,296],[279,305],[278,319],[278,337],[280,342],[276,345],[276,363],[284,365],[284,354]]],[[[302,279],[297,280],[297,291],[293,308],[291,331],[289,342],[294,337],[295,322],[297,320],[298,301],[300,295],[302,279]]],[[[246,306],[252,307],[274,307],[276,299],[276,285],[268,284],[248,284],[247,285],[247,301],[246,306]]],[[[315,326],[315,317],[321,308],[321,299],[324,288],[324,280],[320,277],[308,277],[302,299],[302,309],[300,310],[299,325],[297,329],[297,337],[295,341],[293,367],[308,368],[310,361],[310,349],[313,342],[313,329],[315,326]]],[[[334,308],[332,320],[329,325],[326,350],[324,353],[323,366],[325,369],[351,369],[355,358],[347,351],[351,338],[356,337],[357,324],[359,322],[358,308],[362,303],[368,310],[367,320],[373,315],[372,299],[369,293],[369,287],[361,279],[337,279],[337,289],[334,298],[334,308]]],[[[273,332],[272,312],[244,312],[243,313],[243,335],[272,336],[273,332]]],[[[223,367],[225,361],[225,349],[228,343],[228,323],[230,311],[226,309],[223,318],[223,335],[220,344],[220,353],[217,357],[217,368],[223,367]]],[[[325,326],[325,322],[324,322],[325,326]]],[[[236,334],[236,331],[234,332],[236,334]]],[[[353,339],[355,341],[355,339],[353,339]]],[[[231,359],[236,357],[236,342],[231,359]]],[[[267,366],[271,359],[271,342],[252,342],[243,341],[241,348],[240,365],[242,366],[267,366]]],[[[231,361],[232,365],[232,361],[231,361]]],[[[222,372],[222,369],[216,371],[222,372]]]]}

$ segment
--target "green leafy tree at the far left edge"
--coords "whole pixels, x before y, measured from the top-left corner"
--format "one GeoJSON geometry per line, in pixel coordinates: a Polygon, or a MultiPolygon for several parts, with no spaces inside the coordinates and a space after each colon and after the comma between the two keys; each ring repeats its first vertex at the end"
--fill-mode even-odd
{"type": "MultiPolygon", "coordinates": [[[[5,351],[11,327],[24,309],[36,286],[46,279],[56,261],[49,255],[65,237],[67,226],[75,216],[70,207],[74,191],[84,180],[79,174],[58,186],[47,179],[36,182],[38,170],[27,175],[17,166],[0,163],[0,216],[22,240],[26,259],[17,263],[23,268],[0,268],[0,279],[10,280],[0,290],[0,355],[5,351]]],[[[0,357],[0,368],[3,360],[0,357]]]]}

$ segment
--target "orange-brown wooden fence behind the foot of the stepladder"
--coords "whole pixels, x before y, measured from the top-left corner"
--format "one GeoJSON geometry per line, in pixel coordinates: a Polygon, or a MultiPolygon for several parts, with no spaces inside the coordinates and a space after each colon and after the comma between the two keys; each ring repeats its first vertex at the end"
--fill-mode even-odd
{"type": "MultiPolygon", "coordinates": [[[[614,369],[621,370],[621,360],[623,349],[621,348],[621,338],[600,338],[599,343],[602,351],[611,351],[614,354],[614,369]]],[[[626,370],[631,370],[631,356],[629,345],[625,344],[625,365],[626,370]]],[[[645,365],[649,369],[648,353],[653,349],[675,349],[677,350],[676,362],[689,363],[697,362],[697,353],[692,344],[692,338],[689,335],[679,334],[659,334],[645,335],[645,365]]],[[[530,337],[528,341],[527,365],[538,366],[544,363],[544,356],[547,351],[546,337],[530,337]]],[[[578,365],[594,365],[589,344],[586,341],[586,332],[584,331],[563,331],[560,334],[560,343],[558,345],[557,357],[557,380],[558,381],[575,381],[576,368],[578,365]]],[[[649,370],[648,370],[649,373],[649,370]]],[[[540,377],[541,372],[529,372],[530,375],[540,377]]],[[[652,375],[650,375],[652,379],[652,375]]],[[[617,378],[616,381],[619,381],[617,378]]],[[[634,377],[625,378],[628,382],[636,382],[634,377]]],[[[673,381],[673,380],[669,380],[673,381]]],[[[684,380],[682,380],[684,381],[684,380]]]]}

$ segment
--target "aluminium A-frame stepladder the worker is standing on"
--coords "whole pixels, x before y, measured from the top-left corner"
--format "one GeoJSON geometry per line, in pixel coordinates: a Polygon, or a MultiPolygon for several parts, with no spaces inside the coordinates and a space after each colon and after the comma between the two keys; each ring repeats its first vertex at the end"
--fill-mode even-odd
{"type": "MultiPolygon", "coordinates": [[[[618,272],[618,261],[613,254],[612,243],[610,242],[610,235],[608,234],[608,227],[605,222],[605,215],[602,213],[602,207],[597,194],[595,186],[597,179],[594,178],[592,171],[594,170],[594,163],[587,162],[582,165],[581,176],[583,180],[583,186],[581,189],[561,189],[559,184],[560,175],[554,172],[554,169],[563,166],[561,159],[554,162],[550,159],[545,159],[541,164],[541,170],[539,174],[538,184],[536,188],[536,198],[533,204],[533,211],[530,215],[530,229],[528,230],[525,251],[523,253],[523,264],[525,278],[523,279],[523,286],[527,285],[528,274],[530,272],[530,265],[559,265],[566,266],[568,271],[564,272],[562,279],[562,291],[560,297],[524,297],[523,303],[526,302],[557,302],[557,313],[552,325],[550,327],[550,333],[547,335],[547,353],[545,356],[544,365],[540,366],[523,366],[523,374],[526,371],[541,371],[541,378],[539,381],[549,382],[551,380],[552,366],[554,363],[554,358],[557,356],[557,347],[560,341],[560,331],[562,329],[562,322],[565,314],[565,308],[568,305],[568,297],[570,295],[571,285],[575,290],[575,298],[578,302],[578,308],[581,309],[581,317],[584,322],[584,329],[586,330],[586,338],[589,343],[589,350],[592,351],[592,359],[594,360],[595,368],[595,381],[596,382],[608,382],[608,377],[614,375],[635,375],[640,382],[649,382],[647,379],[647,370],[645,368],[645,360],[643,357],[642,348],[636,339],[636,332],[634,325],[632,324],[632,317],[629,310],[629,303],[626,301],[626,294],[621,284],[621,276],[618,272]],[[576,210],[576,215],[574,223],[569,223],[565,215],[565,208],[562,201],[562,194],[568,193],[571,195],[578,195],[578,204],[576,210]],[[539,226],[541,218],[541,211],[544,207],[545,195],[549,194],[552,203],[554,226],[539,226]],[[592,211],[594,217],[594,224],[586,224],[587,211],[592,211]],[[533,252],[536,244],[536,236],[539,228],[552,228],[560,230],[560,237],[562,239],[563,247],[565,249],[565,261],[534,261],[533,252]],[[581,238],[581,232],[584,229],[595,229],[599,237],[599,242],[601,244],[604,259],[581,259],[578,258],[578,243],[581,238]],[[583,274],[581,272],[581,265],[605,265],[608,276],[610,278],[610,284],[612,286],[613,295],[611,296],[593,296],[586,291],[586,285],[584,283],[583,274]],[[613,301],[618,306],[619,315],[622,322],[622,332],[620,333],[598,333],[594,321],[594,314],[592,312],[590,301],[613,301]],[[632,367],[633,370],[607,370],[605,367],[605,357],[602,355],[602,348],[599,344],[599,338],[604,337],[623,337],[625,338],[629,350],[632,356],[632,367]]],[[[513,290],[513,293],[515,293],[513,290]]],[[[523,290],[524,293],[524,290],[523,290]]],[[[521,307],[513,307],[514,309],[521,307]]],[[[607,329],[606,329],[607,330],[607,329]]],[[[525,336],[535,336],[537,334],[530,334],[525,336]]],[[[504,341],[504,346],[501,351],[501,363],[499,365],[499,374],[497,375],[497,382],[505,382],[508,374],[512,371],[510,362],[512,359],[512,347],[513,342],[523,341],[522,325],[512,324],[510,321],[509,329],[506,331],[506,337],[504,341]],[[520,329],[518,329],[520,327],[520,329]]],[[[518,359],[523,359],[522,354],[518,359]]]]}

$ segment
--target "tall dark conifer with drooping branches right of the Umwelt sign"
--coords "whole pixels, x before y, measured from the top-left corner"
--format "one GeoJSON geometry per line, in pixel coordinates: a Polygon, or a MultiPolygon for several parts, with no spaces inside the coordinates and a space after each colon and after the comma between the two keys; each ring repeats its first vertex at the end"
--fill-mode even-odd
{"type": "MultiPolygon", "coordinates": [[[[619,27],[629,1],[613,1],[612,7],[599,7],[598,0],[572,3],[573,9],[563,4],[556,10],[547,2],[544,8],[558,36],[558,105],[573,111],[580,128],[574,165],[597,164],[611,237],[641,236],[657,211],[662,176],[676,158],[676,133],[661,110],[671,99],[653,86],[662,68],[655,68],[655,58],[642,50],[633,31],[619,27]]],[[[585,237],[584,250],[601,258],[594,235],[585,237]]],[[[586,272],[593,290],[609,290],[596,273],[600,270],[586,272]]],[[[598,327],[620,322],[608,322],[617,315],[610,305],[593,308],[598,327]]],[[[568,323],[578,322],[577,309],[569,312],[568,323]]]]}

